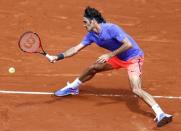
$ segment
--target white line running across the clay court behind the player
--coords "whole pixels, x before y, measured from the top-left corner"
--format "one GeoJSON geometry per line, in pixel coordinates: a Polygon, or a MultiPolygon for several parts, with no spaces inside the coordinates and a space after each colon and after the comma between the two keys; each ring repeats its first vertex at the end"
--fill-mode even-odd
{"type": "MultiPolygon", "coordinates": [[[[7,91],[0,90],[0,94],[27,94],[27,95],[53,95],[53,92],[31,92],[31,91],[7,91]]],[[[83,93],[80,95],[91,95],[91,96],[101,96],[101,97],[128,97],[128,95],[124,94],[95,94],[95,93],[83,93]]],[[[136,97],[134,95],[133,97],[136,97]]],[[[181,99],[181,96],[153,96],[154,98],[162,98],[162,99],[181,99]]]]}

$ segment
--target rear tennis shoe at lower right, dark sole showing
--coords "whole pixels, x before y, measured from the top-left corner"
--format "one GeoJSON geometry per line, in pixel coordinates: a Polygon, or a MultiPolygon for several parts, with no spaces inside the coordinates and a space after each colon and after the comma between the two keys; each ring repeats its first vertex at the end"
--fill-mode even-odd
{"type": "Polygon", "coordinates": [[[161,127],[170,123],[172,121],[172,118],[173,118],[172,115],[169,115],[166,113],[160,114],[159,116],[155,118],[155,121],[157,122],[157,127],[161,127]]]}

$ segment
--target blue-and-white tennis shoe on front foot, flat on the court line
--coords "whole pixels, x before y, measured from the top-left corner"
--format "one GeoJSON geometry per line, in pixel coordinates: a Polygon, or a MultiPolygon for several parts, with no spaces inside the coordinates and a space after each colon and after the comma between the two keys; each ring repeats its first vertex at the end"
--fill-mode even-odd
{"type": "Polygon", "coordinates": [[[79,88],[72,88],[69,86],[70,84],[67,83],[67,86],[64,88],[55,91],[55,96],[67,96],[67,95],[78,95],[79,94],[79,88]]]}

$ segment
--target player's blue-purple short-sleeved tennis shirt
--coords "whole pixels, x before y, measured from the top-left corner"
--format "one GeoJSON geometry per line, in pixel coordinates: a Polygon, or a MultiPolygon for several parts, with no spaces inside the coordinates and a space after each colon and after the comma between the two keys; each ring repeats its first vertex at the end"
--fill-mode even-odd
{"type": "Polygon", "coordinates": [[[132,44],[132,48],[118,54],[117,57],[127,61],[131,58],[144,55],[138,44],[119,26],[112,23],[101,23],[100,26],[101,30],[99,33],[88,32],[81,43],[86,46],[96,43],[102,48],[114,51],[123,44],[123,39],[127,37],[132,44]]]}

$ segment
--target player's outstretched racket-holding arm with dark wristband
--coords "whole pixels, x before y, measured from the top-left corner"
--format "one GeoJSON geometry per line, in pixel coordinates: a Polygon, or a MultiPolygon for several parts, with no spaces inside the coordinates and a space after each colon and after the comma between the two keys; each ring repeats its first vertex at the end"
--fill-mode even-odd
{"type": "Polygon", "coordinates": [[[50,56],[51,59],[49,59],[49,61],[54,63],[55,61],[62,60],[62,59],[67,58],[67,57],[71,57],[71,56],[77,54],[84,47],[86,47],[86,45],[79,43],[78,45],[73,46],[73,47],[69,48],[68,50],[66,50],[66,51],[64,51],[58,55],[55,55],[55,56],[51,55],[50,56]]]}

